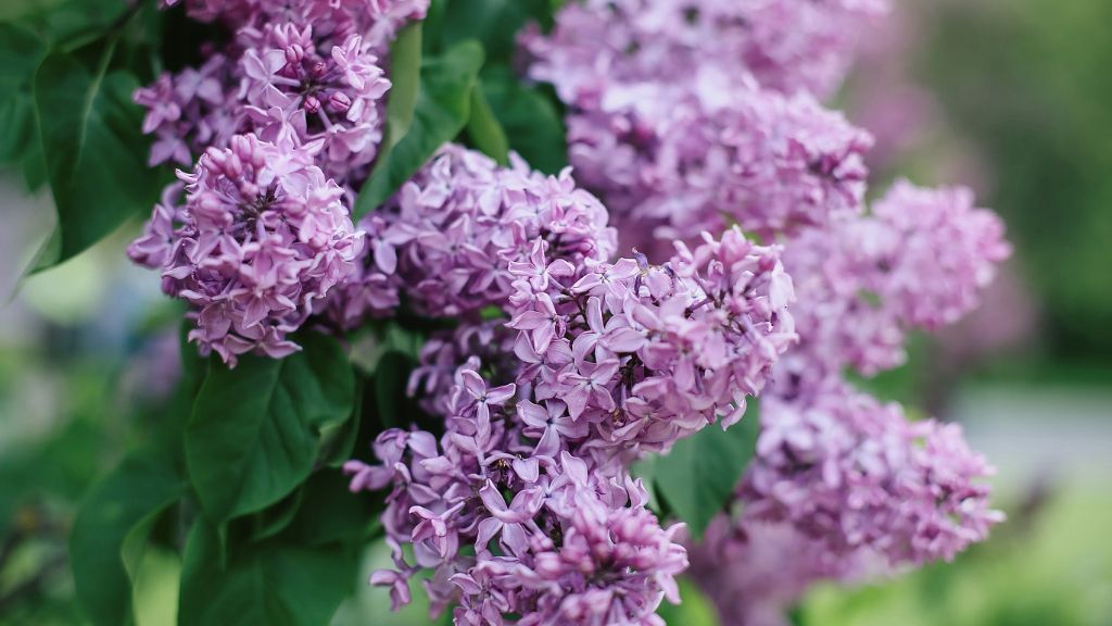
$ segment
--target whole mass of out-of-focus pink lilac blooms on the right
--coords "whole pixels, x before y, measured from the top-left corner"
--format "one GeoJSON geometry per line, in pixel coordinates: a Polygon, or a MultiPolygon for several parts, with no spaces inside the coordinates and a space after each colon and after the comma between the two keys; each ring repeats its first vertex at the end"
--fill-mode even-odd
{"type": "Polygon", "coordinates": [[[990,469],[956,427],[910,423],[843,380],[900,364],[905,332],[971,310],[1009,254],[999,218],[964,189],[897,183],[864,206],[871,138],[816,98],[885,4],[588,0],[523,40],[528,75],[568,106],[570,160],[624,245],[739,224],[784,247],[800,343],[763,395],[735,498],[746,512],[691,546],[726,623],[776,624],[807,585],[864,563],[951,558],[1000,519],[990,469]]]}

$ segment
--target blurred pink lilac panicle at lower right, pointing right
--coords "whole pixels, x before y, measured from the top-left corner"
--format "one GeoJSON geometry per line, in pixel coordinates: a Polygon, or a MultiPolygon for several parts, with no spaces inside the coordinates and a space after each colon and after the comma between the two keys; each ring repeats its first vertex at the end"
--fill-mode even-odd
{"type": "MultiPolygon", "coordinates": [[[[838,383],[833,383],[837,385],[838,383]]],[[[795,402],[765,398],[744,518],[786,522],[835,555],[868,548],[893,566],[951,559],[1002,519],[992,470],[956,424],[909,422],[847,387],[795,402]]]]}

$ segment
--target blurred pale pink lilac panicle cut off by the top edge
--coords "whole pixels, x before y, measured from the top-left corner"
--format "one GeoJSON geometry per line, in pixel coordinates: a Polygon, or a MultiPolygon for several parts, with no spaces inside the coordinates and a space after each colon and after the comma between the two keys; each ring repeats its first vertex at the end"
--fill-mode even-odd
{"type": "Polygon", "coordinates": [[[845,77],[857,36],[887,9],[886,0],[587,0],[567,3],[553,33],[529,33],[526,45],[543,60],[538,78],[567,102],[582,104],[576,92],[600,97],[600,71],[624,82],[683,81],[703,65],[825,97],[845,77]]]}

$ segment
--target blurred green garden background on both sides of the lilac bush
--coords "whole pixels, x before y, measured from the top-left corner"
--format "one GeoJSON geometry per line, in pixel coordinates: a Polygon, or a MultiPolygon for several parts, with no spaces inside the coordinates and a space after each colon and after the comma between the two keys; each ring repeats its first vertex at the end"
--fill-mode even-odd
{"type": "MultiPolygon", "coordinates": [[[[1015,255],[982,307],[916,338],[911,365],[862,381],[964,423],[999,469],[1009,521],[953,564],[821,586],[798,626],[1112,625],[1109,25],[1109,0],[905,1],[838,97],[877,136],[874,188],[897,173],[966,184],[1009,224],[1015,255]]],[[[20,282],[52,221],[49,196],[22,189],[0,174],[0,624],[80,624],[69,525],[90,481],[160,418],[180,310],[122,255],[138,222],[20,282]]],[[[172,624],[178,569],[143,556],[140,625],[172,624]]],[[[716,624],[684,590],[668,623],[716,624]]],[[[428,622],[386,606],[366,588],[336,622],[428,622]]]]}

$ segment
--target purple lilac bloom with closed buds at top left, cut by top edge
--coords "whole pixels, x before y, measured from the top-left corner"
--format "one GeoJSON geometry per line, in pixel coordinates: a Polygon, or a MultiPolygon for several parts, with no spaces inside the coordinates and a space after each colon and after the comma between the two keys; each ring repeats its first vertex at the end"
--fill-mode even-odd
{"type": "MultiPolygon", "coordinates": [[[[173,2],[170,2],[171,4],[173,2]]],[[[187,1],[190,16],[220,20],[232,40],[199,68],[163,74],[136,92],[153,134],[151,164],[182,165],[238,134],[296,144],[321,140],[318,165],[340,186],[366,176],[381,140],[381,58],[397,28],[428,0],[187,1]]]]}

